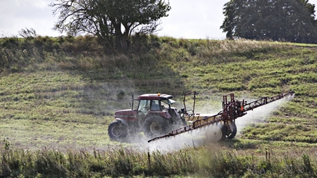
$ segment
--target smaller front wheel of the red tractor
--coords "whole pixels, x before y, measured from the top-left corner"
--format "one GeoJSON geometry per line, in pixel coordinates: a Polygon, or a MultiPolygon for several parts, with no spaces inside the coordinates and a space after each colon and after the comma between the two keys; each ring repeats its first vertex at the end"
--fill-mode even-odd
{"type": "Polygon", "coordinates": [[[127,127],[118,121],[112,122],[108,127],[108,135],[111,141],[123,141],[127,134],[127,127]]]}

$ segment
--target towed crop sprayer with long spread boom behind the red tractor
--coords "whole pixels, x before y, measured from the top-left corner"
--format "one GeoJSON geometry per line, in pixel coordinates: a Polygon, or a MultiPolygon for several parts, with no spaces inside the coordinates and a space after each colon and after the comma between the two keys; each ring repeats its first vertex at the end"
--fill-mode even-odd
{"type": "MultiPolygon", "coordinates": [[[[189,92],[185,94],[184,106],[185,98],[189,94],[194,95],[193,98],[195,102],[196,92],[189,92]]],[[[255,108],[259,108],[260,106],[264,106],[268,103],[278,101],[281,98],[285,98],[286,96],[294,96],[294,91],[289,91],[285,94],[278,94],[272,97],[262,97],[257,99],[256,101],[252,101],[251,103],[247,103],[247,101],[244,100],[235,100],[234,94],[228,94],[223,96],[223,110],[220,110],[220,112],[216,115],[194,114],[194,107],[192,109],[192,114],[189,114],[187,113],[189,110],[186,110],[185,106],[185,112],[183,112],[182,119],[186,121],[191,121],[189,125],[178,129],[174,129],[168,134],[157,136],[154,139],[150,139],[148,142],[163,139],[169,136],[175,136],[178,134],[192,131],[194,129],[206,127],[208,125],[214,126],[206,131],[206,138],[209,139],[209,141],[223,141],[225,138],[233,139],[237,134],[237,127],[235,125],[235,120],[237,118],[246,115],[247,111],[249,110],[254,110],[255,108]]]]}

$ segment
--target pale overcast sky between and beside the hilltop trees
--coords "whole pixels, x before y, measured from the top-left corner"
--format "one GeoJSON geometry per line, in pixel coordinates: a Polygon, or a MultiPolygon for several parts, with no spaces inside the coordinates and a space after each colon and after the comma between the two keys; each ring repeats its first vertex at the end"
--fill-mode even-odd
{"type": "MultiPolygon", "coordinates": [[[[166,0],[167,1],[167,0],[166,0]]],[[[229,0],[170,0],[172,9],[161,19],[159,36],[185,39],[224,39],[220,30],[223,5],[229,0]]],[[[57,20],[48,6],[51,0],[0,0],[0,35],[11,37],[33,28],[41,36],[60,36],[51,30],[57,20]]],[[[317,0],[309,0],[317,4],[317,0]]],[[[317,10],[317,7],[315,8],[317,10]]],[[[316,13],[315,13],[316,14],[316,13]]]]}

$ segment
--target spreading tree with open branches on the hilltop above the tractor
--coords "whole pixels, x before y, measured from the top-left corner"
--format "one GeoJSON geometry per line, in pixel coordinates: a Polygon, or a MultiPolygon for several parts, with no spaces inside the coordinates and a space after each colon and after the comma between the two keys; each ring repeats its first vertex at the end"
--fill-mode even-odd
{"type": "Polygon", "coordinates": [[[55,0],[50,6],[59,15],[54,30],[92,34],[108,43],[115,37],[122,49],[128,48],[131,34],[158,31],[159,20],[170,11],[164,0],[55,0]]]}

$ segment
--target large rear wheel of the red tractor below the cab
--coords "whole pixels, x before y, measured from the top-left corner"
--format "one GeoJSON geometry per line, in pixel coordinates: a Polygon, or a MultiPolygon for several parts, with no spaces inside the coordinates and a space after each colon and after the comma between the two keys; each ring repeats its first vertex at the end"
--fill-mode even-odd
{"type": "Polygon", "coordinates": [[[147,139],[162,136],[166,134],[166,122],[162,117],[153,115],[145,119],[143,131],[147,139]]]}

